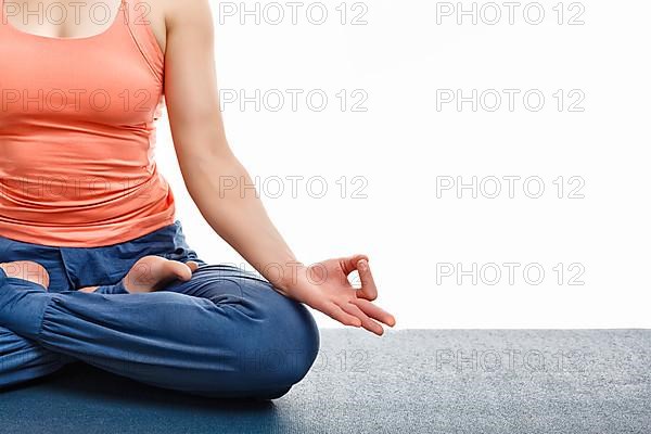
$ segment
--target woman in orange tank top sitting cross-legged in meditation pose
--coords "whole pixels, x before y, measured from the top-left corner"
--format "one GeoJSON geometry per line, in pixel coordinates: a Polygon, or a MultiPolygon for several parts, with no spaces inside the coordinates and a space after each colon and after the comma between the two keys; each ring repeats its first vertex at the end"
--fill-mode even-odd
{"type": "Polygon", "coordinates": [[[306,267],[255,191],[221,188],[252,181],[224,131],[207,0],[0,3],[0,386],[81,360],[277,398],[318,353],[303,304],[378,335],[395,324],[371,303],[368,257],[306,267]],[[111,18],[93,23],[97,8],[111,18]],[[153,158],[164,103],[191,197],[264,279],[186,243],[153,158]]]}

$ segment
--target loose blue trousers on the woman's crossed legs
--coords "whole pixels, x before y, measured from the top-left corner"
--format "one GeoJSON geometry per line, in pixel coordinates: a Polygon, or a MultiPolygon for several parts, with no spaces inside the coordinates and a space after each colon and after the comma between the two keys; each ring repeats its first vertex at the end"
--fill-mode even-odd
{"type": "Polygon", "coordinates": [[[0,237],[0,263],[33,260],[48,291],[0,269],[0,387],[72,361],[158,387],[272,399],[301,381],[319,350],[307,308],[266,280],[209,265],[181,224],[102,247],[52,247],[0,237]],[[152,293],[120,284],[148,255],[200,264],[192,279],[152,293]],[[100,288],[94,293],[77,291],[100,288]]]}

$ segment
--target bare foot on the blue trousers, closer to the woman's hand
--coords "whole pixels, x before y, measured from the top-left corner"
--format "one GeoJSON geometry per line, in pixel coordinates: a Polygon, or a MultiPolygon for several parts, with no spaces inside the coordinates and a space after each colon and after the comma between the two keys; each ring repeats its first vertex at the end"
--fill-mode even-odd
{"type": "MultiPolygon", "coordinates": [[[[162,256],[144,256],[131,267],[123,282],[125,289],[130,293],[153,292],[177,279],[190,280],[196,268],[199,268],[199,264],[194,260],[183,264],[162,256]]],[[[98,288],[81,288],[79,291],[93,292],[98,288]]]]}

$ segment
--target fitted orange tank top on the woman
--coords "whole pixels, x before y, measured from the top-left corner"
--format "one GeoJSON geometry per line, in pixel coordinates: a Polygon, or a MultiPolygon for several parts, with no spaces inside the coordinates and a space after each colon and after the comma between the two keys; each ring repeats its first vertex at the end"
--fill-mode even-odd
{"type": "Polygon", "coordinates": [[[122,0],[102,33],[56,38],[14,27],[11,3],[0,0],[0,235],[93,247],[174,224],[154,161],[164,54],[143,10],[122,0]]]}

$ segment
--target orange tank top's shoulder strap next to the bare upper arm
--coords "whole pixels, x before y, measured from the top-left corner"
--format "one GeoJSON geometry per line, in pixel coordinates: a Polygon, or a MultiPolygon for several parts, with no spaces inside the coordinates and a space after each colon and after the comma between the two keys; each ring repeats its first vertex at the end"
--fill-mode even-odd
{"type": "Polygon", "coordinates": [[[120,11],[124,17],[123,22],[131,35],[133,42],[149,64],[154,76],[163,84],[165,54],[161,50],[161,46],[151,27],[148,16],[150,12],[148,4],[148,2],[141,0],[122,0],[120,11]]]}

